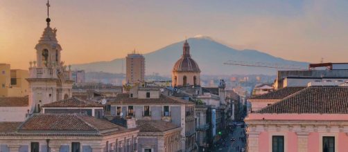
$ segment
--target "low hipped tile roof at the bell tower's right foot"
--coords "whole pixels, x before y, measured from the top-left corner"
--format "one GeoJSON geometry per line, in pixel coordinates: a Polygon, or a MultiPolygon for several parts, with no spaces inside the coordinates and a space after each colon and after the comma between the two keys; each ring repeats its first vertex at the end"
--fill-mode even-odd
{"type": "Polygon", "coordinates": [[[42,107],[103,107],[102,104],[89,101],[87,99],[79,99],[77,97],[71,97],[69,99],[63,99],[58,102],[52,102],[50,104],[44,104],[42,107]]]}

